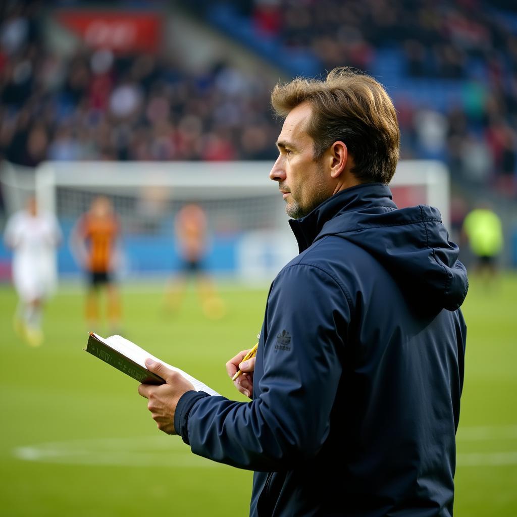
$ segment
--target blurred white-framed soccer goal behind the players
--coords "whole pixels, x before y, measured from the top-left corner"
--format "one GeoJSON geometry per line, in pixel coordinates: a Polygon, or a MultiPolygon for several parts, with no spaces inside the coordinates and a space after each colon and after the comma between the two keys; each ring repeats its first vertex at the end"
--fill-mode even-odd
{"type": "MultiPolygon", "coordinates": [[[[36,173],[38,204],[54,212],[67,235],[98,195],[122,223],[125,270],[169,274],[179,265],[174,218],[196,203],[208,221],[207,267],[241,280],[273,278],[297,253],[285,203],[269,179],[270,162],[47,162],[36,173]]],[[[449,178],[435,161],[398,165],[391,184],[399,206],[431,204],[449,217],[449,178]]],[[[77,273],[67,250],[60,273],[77,273]]]]}

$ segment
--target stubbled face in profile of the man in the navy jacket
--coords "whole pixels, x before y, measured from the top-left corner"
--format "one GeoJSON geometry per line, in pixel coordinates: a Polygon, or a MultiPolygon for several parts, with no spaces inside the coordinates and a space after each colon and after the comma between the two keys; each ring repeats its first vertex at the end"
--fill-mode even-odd
{"type": "Polygon", "coordinates": [[[289,112],[277,141],[279,156],[269,173],[278,181],[287,215],[294,219],[306,216],[332,194],[330,176],[325,176],[322,161],[314,161],[314,140],[305,130],[311,113],[307,102],[289,112]]]}

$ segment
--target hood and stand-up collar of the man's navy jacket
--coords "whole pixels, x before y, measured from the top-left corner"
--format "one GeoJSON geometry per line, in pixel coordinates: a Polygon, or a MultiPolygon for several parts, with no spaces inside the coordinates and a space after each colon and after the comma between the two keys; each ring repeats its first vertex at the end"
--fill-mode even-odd
{"type": "Polygon", "coordinates": [[[399,209],[387,185],[343,190],[289,223],[300,252],[327,235],[368,251],[421,308],[454,311],[465,299],[467,272],[438,209],[427,205],[399,209]]]}

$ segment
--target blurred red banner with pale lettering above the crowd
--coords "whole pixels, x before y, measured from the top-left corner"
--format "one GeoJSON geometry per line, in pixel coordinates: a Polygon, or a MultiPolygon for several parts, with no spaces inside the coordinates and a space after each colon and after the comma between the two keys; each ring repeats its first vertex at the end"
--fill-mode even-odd
{"type": "Polygon", "coordinates": [[[161,23],[155,13],[65,10],[57,13],[57,20],[94,49],[156,52],[160,44],[161,23]]]}

